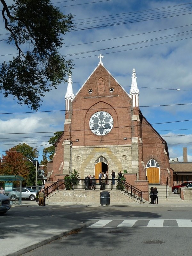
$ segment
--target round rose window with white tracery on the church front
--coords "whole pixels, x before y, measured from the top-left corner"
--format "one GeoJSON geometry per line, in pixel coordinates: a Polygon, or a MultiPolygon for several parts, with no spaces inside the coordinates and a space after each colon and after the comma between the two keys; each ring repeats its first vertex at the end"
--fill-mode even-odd
{"type": "Polygon", "coordinates": [[[89,120],[89,127],[94,134],[105,135],[113,128],[113,118],[108,112],[96,112],[89,120]]]}

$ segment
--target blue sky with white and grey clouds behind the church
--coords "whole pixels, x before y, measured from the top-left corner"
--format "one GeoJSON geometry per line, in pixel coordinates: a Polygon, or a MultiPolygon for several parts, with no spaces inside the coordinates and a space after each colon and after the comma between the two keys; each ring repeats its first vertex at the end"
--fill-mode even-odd
{"type": "MultiPolygon", "coordinates": [[[[6,1],[8,4],[11,0],[6,1]]],[[[63,36],[61,55],[73,60],[73,92],[79,90],[103,55],[105,68],[129,93],[135,68],[140,110],[166,140],[170,158],[192,161],[192,3],[158,0],[52,1],[75,14],[76,28],[63,36]]],[[[0,10],[2,10],[0,3],[0,10]]],[[[17,56],[8,45],[0,15],[0,65],[17,56]]],[[[35,112],[0,93],[0,154],[19,143],[39,151],[53,132],[63,131],[67,83],[46,93],[35,112]]]]}

